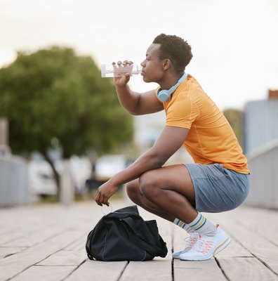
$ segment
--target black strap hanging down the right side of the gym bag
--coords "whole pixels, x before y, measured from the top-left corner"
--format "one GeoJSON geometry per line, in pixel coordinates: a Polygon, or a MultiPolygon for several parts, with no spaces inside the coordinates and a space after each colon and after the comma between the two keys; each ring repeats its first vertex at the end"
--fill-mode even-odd
{"type": "MultiPolygon", "coordinates": [[[[141,237],[138,237],[133,233],[133,230],[131,226],[126,223],[124,220],[119,221],[122,226],[126,229],[126,232],[128,233],[128,237],[133,241],[135,244],[138,244],[138,246],[145,251],[147,251],[152,256],[165,256],[164,250],[158,247],[157,245],[152,245],[143,240],[141,237]]],[[[159,235],[160,237],[160,235],[159,235]]]]}

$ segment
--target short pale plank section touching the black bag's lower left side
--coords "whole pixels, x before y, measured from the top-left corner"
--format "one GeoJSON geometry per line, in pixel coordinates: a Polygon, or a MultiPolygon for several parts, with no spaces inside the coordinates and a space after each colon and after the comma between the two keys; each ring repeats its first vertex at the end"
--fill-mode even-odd
{"type": "Polygon", "coordinates": [[[79,266],[86,261],[87,255],[85,249],[79,251],[58,251],[47,259],[37,263],[38,266],[79,266]]]}

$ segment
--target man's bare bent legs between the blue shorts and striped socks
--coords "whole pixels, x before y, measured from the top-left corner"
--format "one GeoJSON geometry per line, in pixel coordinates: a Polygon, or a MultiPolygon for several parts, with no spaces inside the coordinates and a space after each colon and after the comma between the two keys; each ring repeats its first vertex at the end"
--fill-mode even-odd
{"type": "Polygon", "coordinates": [[[127,185],[128,197],[147,211],[173,222],[196,218],[195,194],[190,174],[183,164],[147,171],[127,185]]]}

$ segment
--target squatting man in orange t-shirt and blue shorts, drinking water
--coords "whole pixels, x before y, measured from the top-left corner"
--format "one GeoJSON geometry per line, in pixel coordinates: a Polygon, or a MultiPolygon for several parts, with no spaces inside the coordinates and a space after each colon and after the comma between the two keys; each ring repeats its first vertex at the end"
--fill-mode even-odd
{"type": "MultiPolygon", "coordinates": [[[[135,93],[130,75],[115,77],[121,105],[133,115],[166,112],[166,126],[150,150],[98,188],[95,201],[109,205],[119,185],[127,183],[135,204],[184,228],[185,248],[173,253],[182,260],[206,260],[230,243],[230,237],[200,212],[238,207],[249,193],[249,169],[237,138],[218,107],[196,79],[185,73],[191,47],[180,37],[160,34],[141,63],[145,82],[159,89],[135,93]],[[163,166],[181,145],[195,164],[163,166]]],[[[118,62],[114,67],[131,65],[118,62]]]]}

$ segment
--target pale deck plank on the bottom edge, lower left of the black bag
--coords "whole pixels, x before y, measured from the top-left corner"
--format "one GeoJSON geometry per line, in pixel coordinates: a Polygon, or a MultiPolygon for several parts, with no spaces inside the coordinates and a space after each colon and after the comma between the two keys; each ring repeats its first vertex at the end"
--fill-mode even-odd
{"type": "Polygon", "coordinates": [[[67,277],[76,266],[32,266],[14,277],[13,281],[60,281],[67,277]]]}

